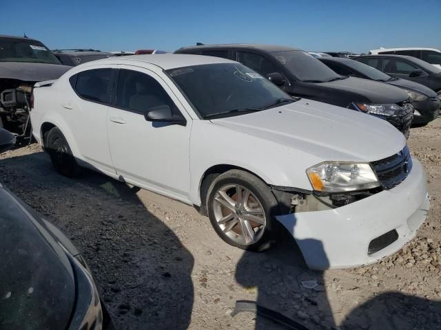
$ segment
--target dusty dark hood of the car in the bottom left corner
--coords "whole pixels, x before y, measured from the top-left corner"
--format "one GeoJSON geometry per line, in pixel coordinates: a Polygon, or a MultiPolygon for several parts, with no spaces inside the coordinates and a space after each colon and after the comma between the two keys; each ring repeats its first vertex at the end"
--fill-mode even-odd
{"type": "Polygon", "coordinates": [[[65,329],[72,267],[37,213],[0,185],[0,329],[65,329]]]}

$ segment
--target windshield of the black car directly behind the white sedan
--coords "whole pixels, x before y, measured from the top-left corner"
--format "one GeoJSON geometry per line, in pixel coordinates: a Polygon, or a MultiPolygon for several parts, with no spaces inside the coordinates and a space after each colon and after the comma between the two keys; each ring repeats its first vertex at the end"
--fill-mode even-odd
{"type": "Polygon", "coordinates": [[[305,83],[325,83],[342,78],[342,76],[329,69],[327,65],[302,50],[271,52],[271,55],[296,78],[305,83]]]}

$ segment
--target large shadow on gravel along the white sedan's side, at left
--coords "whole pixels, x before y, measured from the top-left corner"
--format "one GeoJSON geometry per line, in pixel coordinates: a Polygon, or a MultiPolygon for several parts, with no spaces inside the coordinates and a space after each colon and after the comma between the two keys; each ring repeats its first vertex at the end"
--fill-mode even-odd
{"type": "Polygon", "coordinates": [[[1,159],[0,181],[83,253],[117,329],[189,327],[194,258],[139,188],[92,170],[62,177],[44,153],[1,159]]]}

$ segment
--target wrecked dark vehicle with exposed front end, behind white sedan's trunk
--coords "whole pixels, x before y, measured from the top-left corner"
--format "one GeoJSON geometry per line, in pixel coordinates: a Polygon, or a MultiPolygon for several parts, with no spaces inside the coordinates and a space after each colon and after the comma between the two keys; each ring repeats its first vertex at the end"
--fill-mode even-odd
{"type": "Polygon", "coordinates": [[[34,83],[57,79],[68,69],[40,41],[0,35],[0,128],[24,130],[34,83]]]}

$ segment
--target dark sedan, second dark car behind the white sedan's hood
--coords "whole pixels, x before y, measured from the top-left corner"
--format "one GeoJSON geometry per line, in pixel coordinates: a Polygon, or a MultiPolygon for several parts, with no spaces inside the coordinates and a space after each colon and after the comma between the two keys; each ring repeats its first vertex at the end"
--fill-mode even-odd
{"type": "Polygon", "coordinates": [[[359,61],[353,61],[350,58],[322,57],[319,60],[342,76],[380,81],[406,91],[409,97],[412,98],[413,108],[415,109],[413,124],[427,124],[438,117],[441,101],[438,95],[429,87],[410,80],[389,76],[374,67],[359,61]]]}

